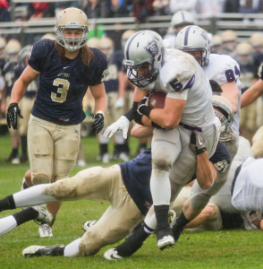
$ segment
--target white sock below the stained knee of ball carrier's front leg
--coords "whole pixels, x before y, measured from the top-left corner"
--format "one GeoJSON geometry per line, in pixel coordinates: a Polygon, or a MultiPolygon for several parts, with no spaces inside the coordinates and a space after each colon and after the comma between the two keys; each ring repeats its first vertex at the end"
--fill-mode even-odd
{"type": "Polygon", "coordinates": [[[150,192],[155,205],[170,204],[171,184],[169,172],[152,169],[150,177],[150,192]]]}

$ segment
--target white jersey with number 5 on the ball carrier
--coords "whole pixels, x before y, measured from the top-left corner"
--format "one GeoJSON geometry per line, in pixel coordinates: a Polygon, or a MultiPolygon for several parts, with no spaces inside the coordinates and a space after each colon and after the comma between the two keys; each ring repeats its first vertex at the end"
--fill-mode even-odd
{"type": "Polygon", "coordinates": [[[206,74],[193,56],[179,49],[167,49],[157,80],[144,89],[166,91],[168,98],[186,100],[181,117],[185,125],[202,128],[215,120],[212,90],[206,74]]]}

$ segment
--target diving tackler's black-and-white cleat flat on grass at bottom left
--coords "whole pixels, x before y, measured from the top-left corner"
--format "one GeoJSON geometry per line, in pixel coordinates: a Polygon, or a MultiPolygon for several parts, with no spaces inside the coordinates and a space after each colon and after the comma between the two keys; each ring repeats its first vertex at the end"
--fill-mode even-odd
{"type": "Polygon", "coordinates": [[[23,256],[64,256],[64,245],[30,246],[22,251],[23,256]]]}

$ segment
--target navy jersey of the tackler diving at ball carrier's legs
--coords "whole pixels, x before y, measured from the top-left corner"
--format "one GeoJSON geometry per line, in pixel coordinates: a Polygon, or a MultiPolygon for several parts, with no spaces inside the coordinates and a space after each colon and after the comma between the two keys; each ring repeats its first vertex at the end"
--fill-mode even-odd
{"type": "MultiPolygon", "coordinates": [[[[217,143],[216,152],[210,160],[219,172],[224,172],[230,164],[231,157],[224,143],[217,143]],[[227,165],[226,165],[227,164],[227,165]]],[[[140,213],[146,215],[153,203],[150,194],[149,180],[151,175],[151,148],[142,152],[131,161],[119,164],[122,171],[123,183],[137,205],[140,213]]],[[[195,179],[195,178],[193,178],[195,179]]]]}

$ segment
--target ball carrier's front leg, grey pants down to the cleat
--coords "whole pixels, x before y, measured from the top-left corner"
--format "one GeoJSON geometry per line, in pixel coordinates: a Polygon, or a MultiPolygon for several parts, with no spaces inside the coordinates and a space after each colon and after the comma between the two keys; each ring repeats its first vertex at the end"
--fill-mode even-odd
{"type": "Polygon", "coordinates": [[[182,145],[178,128],[171,131],[155,129],[153,133],[150,190],[157,217],[157,246],[162,249],[174,244],[167,220],[171,200],[169,172],[182,151],[182,145]]]}

